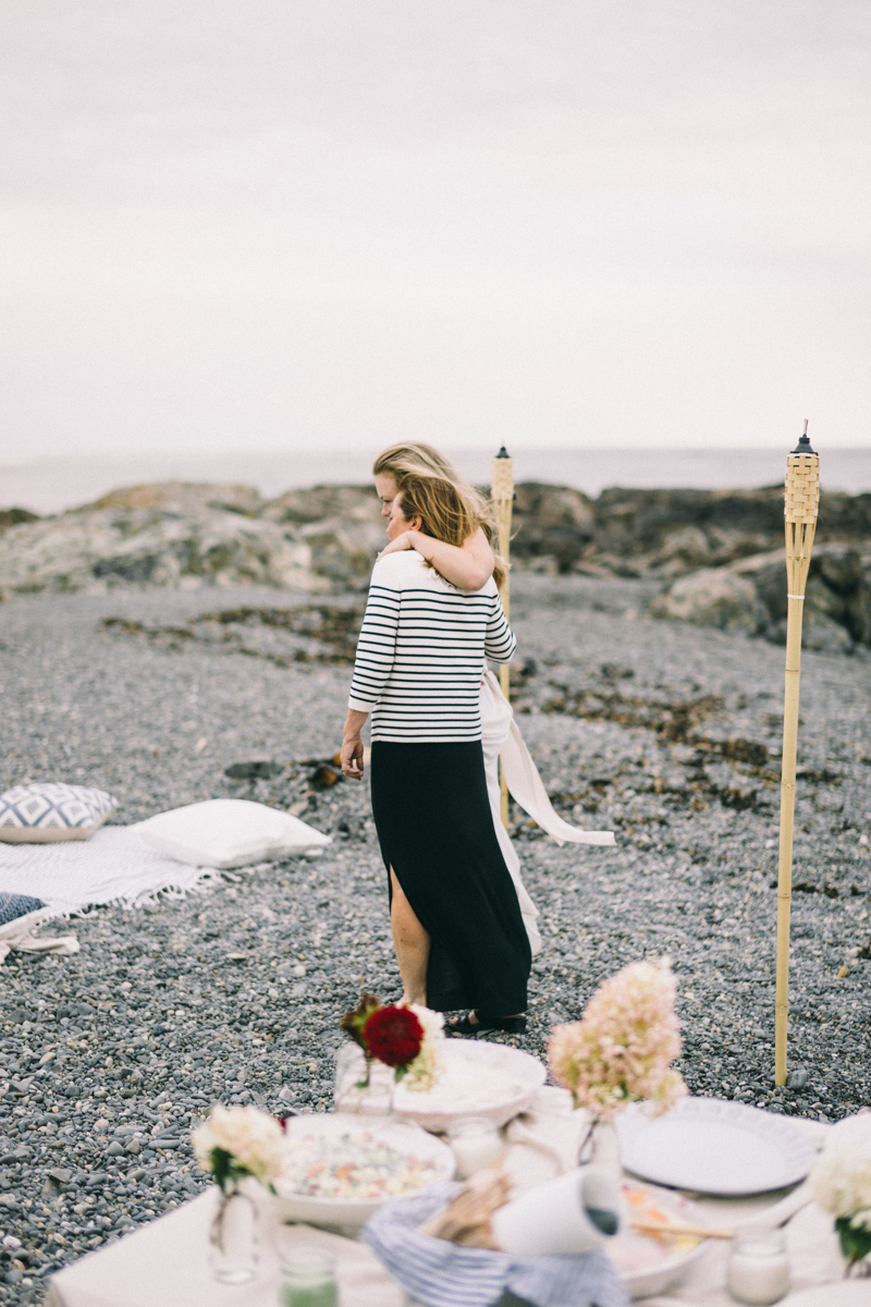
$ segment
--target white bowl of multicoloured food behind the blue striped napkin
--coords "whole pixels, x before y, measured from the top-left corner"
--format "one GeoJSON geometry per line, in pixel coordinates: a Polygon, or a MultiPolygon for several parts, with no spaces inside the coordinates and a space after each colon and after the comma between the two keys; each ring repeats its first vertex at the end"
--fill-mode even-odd
{"type": "Polygon", "coordinates": [[[453,1153],[419,1125],[389,1117],[291,1116],[274,1180],[281,1221],[358,1230],[383,1202],[451,1180],[453,1153]]]}

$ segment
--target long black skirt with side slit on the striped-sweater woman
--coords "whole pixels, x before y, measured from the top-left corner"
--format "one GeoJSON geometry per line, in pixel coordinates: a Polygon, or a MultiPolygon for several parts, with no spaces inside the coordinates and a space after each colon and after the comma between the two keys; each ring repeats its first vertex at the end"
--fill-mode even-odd
{"type": "Polygon", "coordinates": [[[509,1017],[531,966],[517,891],[494,830],[481,741],[372,744],[381,856],[430,935],[427,1005],[509,1017]]]}

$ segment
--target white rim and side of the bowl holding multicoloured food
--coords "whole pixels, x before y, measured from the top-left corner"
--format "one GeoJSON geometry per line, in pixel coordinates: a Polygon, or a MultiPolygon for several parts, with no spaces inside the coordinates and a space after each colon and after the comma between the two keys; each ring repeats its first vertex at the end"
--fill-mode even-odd
{"type": "MultiPolygon", "coordinates": [[[[453,1179],[453,1153],[441,1140],[427,1134],[419,1125],[396,1121],[390,1117],[362,1116],[332,1112],[307,1112],[291,1116],[286,1125],[286,1148],[293,1150],[294,1140],[317,1134],[364,1134],[370,1133],[383,1140],[397,1153],[424,1158],[435,1165],[432,1179],[413,1193],[402,1197],[417,1197],[432,1184],[453,1179]]],[[[366,1225],[387,1199],[319,1199],[306,1193],[295,1193],[276,1180],[278,1196],[276,1206],[279,1221],[304,1221],[308,1225],[358,1230],[366,1225]]]]}

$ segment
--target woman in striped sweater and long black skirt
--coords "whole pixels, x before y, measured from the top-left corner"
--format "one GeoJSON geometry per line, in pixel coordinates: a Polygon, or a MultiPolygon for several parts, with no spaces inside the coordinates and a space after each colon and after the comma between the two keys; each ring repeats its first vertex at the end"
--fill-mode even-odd
{"type": "MultiPolygon", "coordinates": [[[[381,488],[379,488],[381,493],[381,488]]],[[[484,656],[515,651],[492,575],[456,589],[431,566],[481,525],[474,501],[432,473],[389,503],[392,544],[375,565],[358,644],[342,770],[363,774],[372,718],[372,809],[389,874],[404,999],[469,1006],[456,1034],[522,1033],[531,954],[494,829],[481,745],[484,656]]]]}

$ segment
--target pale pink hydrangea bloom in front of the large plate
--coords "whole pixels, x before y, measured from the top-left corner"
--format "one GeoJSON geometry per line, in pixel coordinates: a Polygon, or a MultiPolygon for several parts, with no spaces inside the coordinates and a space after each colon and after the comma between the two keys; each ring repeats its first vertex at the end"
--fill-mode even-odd
{"type": "Polygon", "coordinates": [[[547,1046],[554,1080],[602,1121],[639,1098],[665,1112],[687,1093],[670,1068],[680,1053],[675,995],[667,958],[623,967],[599,985],[580,1021],[554,1027],[547,1046]]]}

